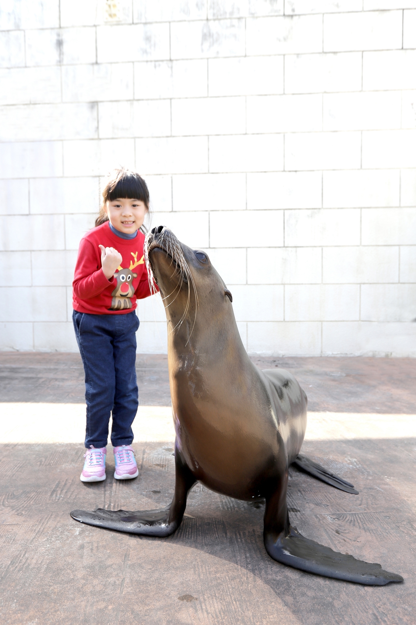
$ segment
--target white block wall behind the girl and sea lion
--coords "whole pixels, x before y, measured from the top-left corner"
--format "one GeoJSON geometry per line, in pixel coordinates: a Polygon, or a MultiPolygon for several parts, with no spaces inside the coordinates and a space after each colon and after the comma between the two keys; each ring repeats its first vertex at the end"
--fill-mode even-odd
{"type": "MultiPolygon", "coordinates": [[[[0,4],[0,349],[74,351],[120,164],[204,249],[244,346],[416,356],[416,0],[0,4]]],[[[138,351],[166,351],[160,297],[138,351]]]]}

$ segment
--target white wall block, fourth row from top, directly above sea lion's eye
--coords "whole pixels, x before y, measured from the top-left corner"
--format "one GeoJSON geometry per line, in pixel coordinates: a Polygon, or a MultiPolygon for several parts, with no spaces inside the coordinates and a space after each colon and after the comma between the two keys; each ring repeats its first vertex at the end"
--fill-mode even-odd
{"type": "Polygon", "coordinates": [[[241,134],[245,131],[245,98],[189,98],[172,101],[172,134],[241,134]]]}

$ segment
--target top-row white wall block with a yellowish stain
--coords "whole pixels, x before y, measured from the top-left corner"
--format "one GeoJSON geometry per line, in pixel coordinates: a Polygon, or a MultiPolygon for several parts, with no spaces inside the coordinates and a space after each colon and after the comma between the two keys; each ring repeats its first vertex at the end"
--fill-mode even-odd
{"type": "Polygon", "coordinates": [[[60,0],[61,26],[96,26],[97,24],[131,24],[132,0],[60,0]]]}

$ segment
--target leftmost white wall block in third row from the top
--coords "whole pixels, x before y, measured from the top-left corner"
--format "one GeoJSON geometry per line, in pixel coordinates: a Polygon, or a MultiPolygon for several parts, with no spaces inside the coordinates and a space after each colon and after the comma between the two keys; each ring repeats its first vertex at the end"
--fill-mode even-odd
{"type": "Polygon", "coordinates": [[[60,68],[0,69],[0,104],[60,102],[60,68]]]}

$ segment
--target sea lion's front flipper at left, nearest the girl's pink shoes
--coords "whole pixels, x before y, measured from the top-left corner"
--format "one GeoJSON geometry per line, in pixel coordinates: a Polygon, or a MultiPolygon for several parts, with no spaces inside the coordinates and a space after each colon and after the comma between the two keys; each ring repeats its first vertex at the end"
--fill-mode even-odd
{"type": "Polygon", "coordinates": [[[181,459],[178,450],[175,449],[175,494],[170,506],[162,510],[138,510],[136,512],[104,510],[102,508],[94,512],[73,510],[70,516],[75,521],[87,525],[116,529],[119,532],[145,536],[169,536],[181,524],[186,507],[186,497],[195,482],[195,477],[181,459]]]}

